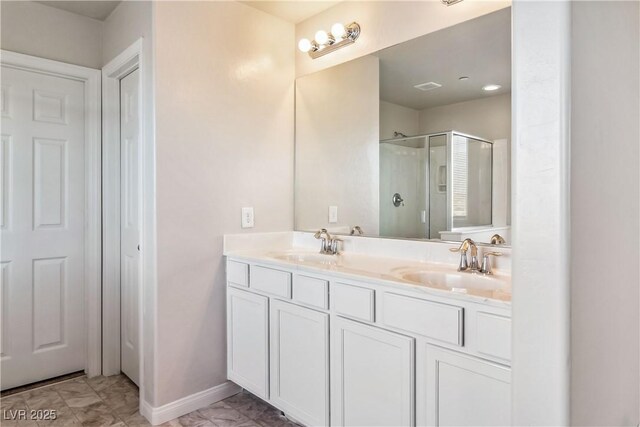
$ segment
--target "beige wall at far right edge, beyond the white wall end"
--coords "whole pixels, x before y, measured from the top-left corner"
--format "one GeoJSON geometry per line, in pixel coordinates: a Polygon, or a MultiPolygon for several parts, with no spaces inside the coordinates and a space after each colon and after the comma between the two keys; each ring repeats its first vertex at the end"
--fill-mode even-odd
{"type": "Polygon", "coordinates": [[[638,5],[573,3],[572,425],[639,421],[638,5]]]}

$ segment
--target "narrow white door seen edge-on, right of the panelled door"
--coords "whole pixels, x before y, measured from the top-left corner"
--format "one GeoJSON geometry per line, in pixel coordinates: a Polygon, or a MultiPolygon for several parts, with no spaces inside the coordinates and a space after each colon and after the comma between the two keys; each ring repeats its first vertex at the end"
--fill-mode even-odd
{"type": "Polygon", "coordinates": [[[120,81],[120,351],[121,370],[140,378],[140,73],[120,81]]]}

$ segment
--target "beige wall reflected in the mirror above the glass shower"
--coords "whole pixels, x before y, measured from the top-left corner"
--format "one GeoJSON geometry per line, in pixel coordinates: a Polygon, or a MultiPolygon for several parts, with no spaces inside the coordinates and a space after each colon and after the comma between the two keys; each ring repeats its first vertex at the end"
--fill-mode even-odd
{"type": "Polygon", "coordinates": [[[457,130],[481,138],[511,139],[511,94],[420,111],[420,133],[457,130]]]}

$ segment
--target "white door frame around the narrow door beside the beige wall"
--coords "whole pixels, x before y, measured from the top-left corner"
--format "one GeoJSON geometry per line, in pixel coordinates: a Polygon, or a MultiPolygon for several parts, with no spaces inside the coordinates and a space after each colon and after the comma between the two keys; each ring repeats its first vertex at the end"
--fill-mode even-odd
{"type": "Polygon", "coordinates": [[[103,186],[102,196],[104,202],[103,224],[103,264],[102,264],[102,316],[104,320],[102,334],[102,373],[103,375],[116,375],[120,373],[120,80],[133,72],[140,70],[138,102],[140,109],[140,143],[141,156],[138,163],[141,183],[139,192],[139,206],[141,218],[141,248],[140,248],[140,272],[138,276],[138,343],[139,343],[139,387],[141,401],[144,396],[144,298],[150,297],[151,292],[144,291],[145,281],[153,279],[149,269],[154,268],[154,263],[149,262],[155,253],[155,236],[152,221],[145,220],[148,213],[155,215],[155,203],[145,200],[152,197],[149,191],[149,182],[154,185],[153,162],[154,159],[146,159],[148,153],[146,109],[147,101],[145,93],[145,62],[143,60],[143,39],[140,38],[125,49],[117,57],[102,68],[102,162],[103,162],[103,186]],[[151,163],[149,163],[149,161],[151,163]],[[149,175],[151,174],[151,175],[149,175]],[[149,179],[149,176],[152,178],[149,179]]]}

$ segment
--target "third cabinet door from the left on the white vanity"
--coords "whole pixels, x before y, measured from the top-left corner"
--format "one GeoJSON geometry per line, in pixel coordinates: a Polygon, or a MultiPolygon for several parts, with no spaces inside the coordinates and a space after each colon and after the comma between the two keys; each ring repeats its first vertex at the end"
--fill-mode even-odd
{"type": "Polygon", "coordinates": [[[331,425],[413,425],[414,339],[340,317],[331,322],[331,425]]]}

